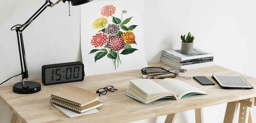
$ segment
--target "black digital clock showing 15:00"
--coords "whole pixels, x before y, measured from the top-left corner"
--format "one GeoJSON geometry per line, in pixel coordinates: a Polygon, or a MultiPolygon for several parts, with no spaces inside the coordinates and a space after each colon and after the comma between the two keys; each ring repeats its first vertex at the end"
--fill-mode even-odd
{"type": "Polygon", "coordinates": [[[42,66],[42,83],[45,86],[78,82],[83,79],[84,65],[80,61],[42,66]]]}

